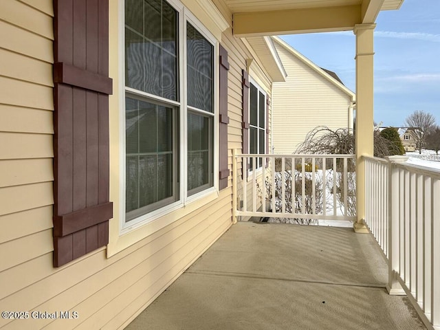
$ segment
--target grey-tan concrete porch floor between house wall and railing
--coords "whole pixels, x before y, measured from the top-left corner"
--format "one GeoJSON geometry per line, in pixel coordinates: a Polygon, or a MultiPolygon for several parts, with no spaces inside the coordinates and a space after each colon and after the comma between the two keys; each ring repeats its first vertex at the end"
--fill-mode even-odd
{"type": "Polygon", "coordinates": [[[426,329],[371,234],[233,225],[126,330],[426,329]]]}

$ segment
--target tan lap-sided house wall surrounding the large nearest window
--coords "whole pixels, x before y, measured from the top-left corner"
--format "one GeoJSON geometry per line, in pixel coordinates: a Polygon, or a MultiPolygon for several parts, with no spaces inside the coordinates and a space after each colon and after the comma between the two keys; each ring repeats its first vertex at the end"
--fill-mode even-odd
{"type": "MultiPolygon", "coordinates": [[[[1,329],[123,329],[232,225],[230,175],[228,188],[167,214],[168,225],[159,229],[146,225],[120,235],[120,4],[109,3],[110,200],[114,203],[110,242],[107,248],[59,268],[52,265],[52,0],[6,0],[0,5],[0,309],[78,313],[72,320],[0,319],[1,329]]],[[[241,70],[246,68],[245,58],[256,54],[232,36],[231,28],[221,34],[210,17],[198,18],[221,36],[228,50],[228,164],[232,170],[232,150],[241,150],[243,141],[241,70]]],[[[270,80],[264,87],[270,96],[270,80]]]]}

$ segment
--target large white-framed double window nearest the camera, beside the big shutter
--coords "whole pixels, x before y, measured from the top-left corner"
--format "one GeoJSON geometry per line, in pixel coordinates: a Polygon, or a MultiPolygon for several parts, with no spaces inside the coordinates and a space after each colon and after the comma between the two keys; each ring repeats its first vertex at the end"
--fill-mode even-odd
{"type": "Polygon", "coordinates": [[[131,225],[214,187],[216,43],[177,1],[124,3],[122,195],[131,225]]]}

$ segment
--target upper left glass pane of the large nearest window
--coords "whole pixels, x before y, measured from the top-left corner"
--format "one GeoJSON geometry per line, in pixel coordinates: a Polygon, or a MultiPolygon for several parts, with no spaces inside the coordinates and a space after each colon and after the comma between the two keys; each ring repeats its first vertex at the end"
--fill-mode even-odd
{"type": "Polygon", "coordinates": [[[177,100],[177,12],[162,0],[125,2],[126,86],[177,100]]]}

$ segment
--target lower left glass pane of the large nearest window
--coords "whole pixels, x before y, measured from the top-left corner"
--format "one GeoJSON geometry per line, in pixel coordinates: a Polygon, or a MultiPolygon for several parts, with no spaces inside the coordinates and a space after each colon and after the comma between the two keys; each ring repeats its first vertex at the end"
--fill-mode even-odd
{"type": "Polygon", "coordinates": [[[126,98],[126,221],[178,199],[177,111],[126,98]]]}

